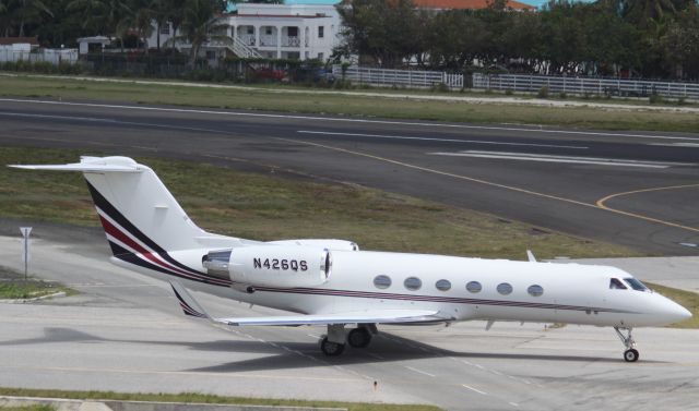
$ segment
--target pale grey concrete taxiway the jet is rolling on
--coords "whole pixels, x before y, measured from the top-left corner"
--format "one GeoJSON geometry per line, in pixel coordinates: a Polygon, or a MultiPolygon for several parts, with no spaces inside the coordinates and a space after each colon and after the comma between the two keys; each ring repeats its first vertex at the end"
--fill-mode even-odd
{"type": "MultiPolygon", "coordinates": [[[[698,330],[639,328],[625,363],[612,329],[483,322],[381,327],[335,359],[318,327],[229,330],[187,319],[166,282],[106,264],[100,233],[34,244],[32,270],[83,293],[0,304],[0,386],[433,403],[449,410],[691,410],[698,330]],[[374,388],[377,382],[377,388],[374,388]]],[[[0,258],[19,266],[17,238],[0,258]]],[[[19,267],[17,267],[19,268],[19,267]]],[[[213,315],[273,311],[197,293],[213,315]]]]}

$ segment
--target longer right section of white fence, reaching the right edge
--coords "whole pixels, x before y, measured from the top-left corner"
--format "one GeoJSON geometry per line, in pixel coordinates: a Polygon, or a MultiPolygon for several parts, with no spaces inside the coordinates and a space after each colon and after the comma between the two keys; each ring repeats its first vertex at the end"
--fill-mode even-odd
{"type": "Polygon", "coordinates": [[[699,99],[699,83],[653,82],[641,80],[567,77],[519,74],[473,74],[473,88],[538,93],[548,87],[552,94],[576,94],[620,97],[699,99]]]}

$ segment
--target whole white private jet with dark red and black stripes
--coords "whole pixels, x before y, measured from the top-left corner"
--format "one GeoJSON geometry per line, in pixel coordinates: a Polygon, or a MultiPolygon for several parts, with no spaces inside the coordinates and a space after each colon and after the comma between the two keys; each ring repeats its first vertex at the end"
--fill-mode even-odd
{"type": "Polygon", "coordinates": [[[613,327],[637,361],[633,327],[691,314],[618,268],[359,251],[341,240],[258,242],[194,225],[155,172],[126,157],[83,157],[80,171],[107,234],[111,262],[168,280],[185,314],[229,326],[325,325],[320,349],[366,348],[381,324],[470,319],[613,327]],[[293,315],[213,318],[187,288],[293,315]],[[351,327],[345,329],[345,327],[351,327]]]}

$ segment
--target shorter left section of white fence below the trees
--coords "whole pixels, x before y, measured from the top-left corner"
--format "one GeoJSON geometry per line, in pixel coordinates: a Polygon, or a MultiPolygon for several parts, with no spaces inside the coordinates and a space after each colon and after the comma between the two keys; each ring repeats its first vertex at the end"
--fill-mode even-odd
{"type": "Polygon", "coordinates": [[[441,71],[369,69],[356,65],[344,68],[335,64],[332,73],[336,78],[348,80],[354,84],[379,87],[433,88],[445,86],[449,89],[463,88],[463,74],[450,74],[441,71]]]}

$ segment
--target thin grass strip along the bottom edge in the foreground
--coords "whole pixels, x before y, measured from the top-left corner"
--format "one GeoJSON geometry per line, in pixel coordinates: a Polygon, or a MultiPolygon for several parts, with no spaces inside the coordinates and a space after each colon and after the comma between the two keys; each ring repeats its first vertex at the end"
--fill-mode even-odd
{"type": "MultiPolygon", "coordinates": [[[[369,383],[367,383],[369,385],[369,383]]],[[[350,411],[439,411],[434,406],[388,404],[367,402],[313,401],[272,398],[223,397],[198,392],[181,394],[146,394],[114,391],[66,391],[57,389],[0,388],[2,396],[67,398],[80,400],[116,400],[149,402],[181,402],[211,404],[250,404],[250,406],[286,406],[286,407],[327,407],[346,408],[350,411]]]]}

